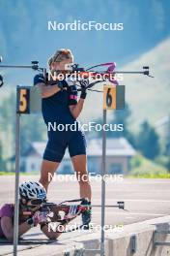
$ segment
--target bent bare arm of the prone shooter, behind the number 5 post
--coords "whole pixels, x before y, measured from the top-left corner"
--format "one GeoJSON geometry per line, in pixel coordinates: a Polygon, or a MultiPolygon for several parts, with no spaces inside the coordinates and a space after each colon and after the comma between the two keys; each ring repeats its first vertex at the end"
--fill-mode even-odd
{"type": "MultiPolygon", "coordinates": [[[[11,217],[3,216],[1,218],[1,228],[7,240],[13,240],[14,238],[14,225],[11,217]]],[[[20,237],[28,230],[30,230],[30,225],[27,222],[23,222],[18,227],[18,236],[20,237]]]]}

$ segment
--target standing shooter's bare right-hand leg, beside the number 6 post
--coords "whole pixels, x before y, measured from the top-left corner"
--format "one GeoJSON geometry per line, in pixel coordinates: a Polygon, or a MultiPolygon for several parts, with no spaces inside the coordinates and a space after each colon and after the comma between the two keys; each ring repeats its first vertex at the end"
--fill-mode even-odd
{"type": "Polygon", "coordinates": [[[87,157],[86,155],[75,155],[71,157],[73,169],[76,172],[77,180],[79,182],[80,197],[88,198],[91,201],[92,192],[87,171],[87,157]]]}

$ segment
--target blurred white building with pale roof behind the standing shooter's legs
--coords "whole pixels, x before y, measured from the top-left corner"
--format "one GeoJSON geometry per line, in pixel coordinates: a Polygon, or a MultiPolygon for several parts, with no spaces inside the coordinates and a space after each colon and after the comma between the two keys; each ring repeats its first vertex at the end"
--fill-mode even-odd
{"type": "MultiPolygon", "coordinates": [[[[41,170],[42,154],[46,143],[35,142],[30,145],[27,153],[21,157],[22,169],[26,173],[38,173],[41,170]]],[[[99,174],[101,170],[102,140],[93,139],[87,142],[88,170],[99,174]]],[[[106,142],[106,170],[107,174],[127,174],[129,159],[135,150],[125,138],[107,139],[106,142]]],[[[60,174],[73,173],[69,152],[66,151],[58,169],[60,174]]]]}

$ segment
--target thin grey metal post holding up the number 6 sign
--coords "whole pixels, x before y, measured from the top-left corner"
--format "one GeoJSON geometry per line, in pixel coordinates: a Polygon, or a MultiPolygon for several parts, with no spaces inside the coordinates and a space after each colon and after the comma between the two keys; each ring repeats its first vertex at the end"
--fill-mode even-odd
{"type": "MultiPolygon", "coordinates": [[[[103,110],[103,124],[106,123],[106,110],[103,110]]],[[[105,155],[106,155],[106,132],[102,130],[102,167],[101,167],[101,234],[100,234],[100,256],[105,255],[104,225],[105,225],[105,155]]]]}

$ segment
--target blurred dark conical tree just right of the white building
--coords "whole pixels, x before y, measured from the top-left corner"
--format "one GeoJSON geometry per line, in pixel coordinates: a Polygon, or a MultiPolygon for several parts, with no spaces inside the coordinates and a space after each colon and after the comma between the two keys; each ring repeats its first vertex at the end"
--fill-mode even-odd
{"type": "Polygon", "coordinates": [[[144,121],[141,124],[141,129],[137,136],[137,147],[149,159],[155,159],[160,153],[158,135],[155,128],[148,121],[144,121]]]}

